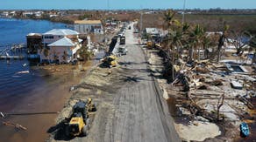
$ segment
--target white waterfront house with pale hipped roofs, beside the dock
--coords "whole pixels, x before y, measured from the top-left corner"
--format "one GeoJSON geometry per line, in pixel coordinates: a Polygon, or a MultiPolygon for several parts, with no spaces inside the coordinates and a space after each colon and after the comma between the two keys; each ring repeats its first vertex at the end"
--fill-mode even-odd
{"type": "Polygon", "coordinates": [[[82,47],[79,33],[69,29],[53,29],[42,35],[44,49],[38,51],[41,62],[69,63],[77,58],[82,47]]]}

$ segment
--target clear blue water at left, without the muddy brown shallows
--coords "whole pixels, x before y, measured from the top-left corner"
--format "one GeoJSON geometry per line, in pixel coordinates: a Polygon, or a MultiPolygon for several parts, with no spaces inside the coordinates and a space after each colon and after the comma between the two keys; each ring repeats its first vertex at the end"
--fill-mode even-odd
{"type": "MultiPolygon", "coordinates": [[[[0,18],[0,44],[25,43],[25,36],[30,32],[44,33],[47,30],[65,28],[66,24],[52,23],[45,20],[20,20],[11,18],[0,18]]],[[[4,48],[4,46],[0,47],[4,48]]],[[[1,50],[1,49],[0,49],[1,50]]],[[[11,60],[6,64],[0,60],[0,105],[10,98],[23,98],[27,91],[31,91],[37,84],[44,81],[32,71],[26,60],[11,60]],[[17,74],[18,71],[30,71],[28,74],[17,74]]],[[[10,106],[8,106],[9,108],[10,106]]],[[[5,108],[1,107],[0,111],[5,108]]]]}

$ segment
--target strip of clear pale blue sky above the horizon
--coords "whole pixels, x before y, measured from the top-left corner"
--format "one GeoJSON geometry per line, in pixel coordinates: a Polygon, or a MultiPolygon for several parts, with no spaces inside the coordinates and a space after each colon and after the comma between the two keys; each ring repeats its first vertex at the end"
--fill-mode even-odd
{"type": "MultiPolygon", "coordinates": [[[[184,0],[2,0],[0,10],[182,9],[183,3],[184,0]]],[[[186,8],[256,9],[256,0],[186,0],[186,8]]]]}

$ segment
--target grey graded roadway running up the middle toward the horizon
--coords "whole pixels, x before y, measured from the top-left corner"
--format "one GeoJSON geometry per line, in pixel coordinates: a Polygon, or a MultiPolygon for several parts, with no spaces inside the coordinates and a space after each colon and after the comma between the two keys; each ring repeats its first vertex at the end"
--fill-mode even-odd
{"type": "Polygon", "coordinates": [[[103,141],[181,141],[172,119],[163,110],[138,38],[133,30],[126,30],[125,38],[128,54],[119,57],[119,62],[125,70],[132,70],[124,80],[131,84],[125,84],[113,99],[114,114],[107,121],[103,141]]]}

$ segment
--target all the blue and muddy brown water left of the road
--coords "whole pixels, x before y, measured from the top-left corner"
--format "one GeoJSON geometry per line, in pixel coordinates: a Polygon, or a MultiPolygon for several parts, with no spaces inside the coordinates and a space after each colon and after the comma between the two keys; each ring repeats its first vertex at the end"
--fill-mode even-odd
{"type": "MultiPolygon", "coordinates": [[[[0,50],[6,44],[25,43],[25,35],[30,32],[65,27],[66,24],[44,20],[0,18],[0,50]]],[[[26,64],[27,60],[11,60],[9,64],[0,60],[0,112],[59,112],[71,96],[69,87],[78,84],[84,75],[76,71],[77,66],[66,65],[65,70],[55,73],[26,64]]],[[[0,118],[0,141],[44,141],[56,117],[57,114],[0,118]],[[23,125],[27,131],[17,131],[2,121],[23,125]]]]}

